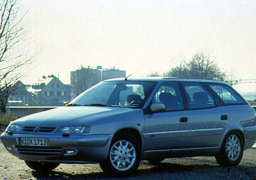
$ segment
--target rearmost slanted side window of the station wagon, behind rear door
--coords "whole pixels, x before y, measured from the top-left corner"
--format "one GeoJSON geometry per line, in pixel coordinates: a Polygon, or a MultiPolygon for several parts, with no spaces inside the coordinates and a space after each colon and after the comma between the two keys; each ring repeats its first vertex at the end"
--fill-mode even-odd
{"type": "Polygon", "coordinates": [[[225,104],[246,104],[244,99],[232,87],[225,84],[206,83],[225,104]]]}

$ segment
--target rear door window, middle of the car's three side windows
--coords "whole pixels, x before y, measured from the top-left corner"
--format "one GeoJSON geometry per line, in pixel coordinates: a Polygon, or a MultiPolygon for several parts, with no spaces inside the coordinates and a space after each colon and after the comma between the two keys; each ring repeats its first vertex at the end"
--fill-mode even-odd
{"type": "Polygon", "coordinates": [[[212,94],[201,83],[182,82],[182,85],[187,94],[189,109],[215,107],[212,94]]]}

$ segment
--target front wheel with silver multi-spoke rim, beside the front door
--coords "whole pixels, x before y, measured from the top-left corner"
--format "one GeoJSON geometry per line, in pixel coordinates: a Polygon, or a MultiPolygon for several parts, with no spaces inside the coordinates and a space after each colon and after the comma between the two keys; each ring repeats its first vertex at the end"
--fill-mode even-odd
{"type": "Polygon", "coordinates": [[[131,175],[140,165],[141,148],[138,141],[128,133],[120,133],[111,142],[108,158],[100,162],[105,173],[118,176],[131,175]]]}

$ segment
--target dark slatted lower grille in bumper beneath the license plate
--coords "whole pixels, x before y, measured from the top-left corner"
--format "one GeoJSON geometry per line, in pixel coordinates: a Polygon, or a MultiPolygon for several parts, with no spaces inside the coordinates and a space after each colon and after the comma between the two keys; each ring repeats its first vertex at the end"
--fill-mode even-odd
{"type": "Polygon", "coordinates": [[[17,153],[31,156],[58,156],[61,147],[15,146],[17,153]]]}

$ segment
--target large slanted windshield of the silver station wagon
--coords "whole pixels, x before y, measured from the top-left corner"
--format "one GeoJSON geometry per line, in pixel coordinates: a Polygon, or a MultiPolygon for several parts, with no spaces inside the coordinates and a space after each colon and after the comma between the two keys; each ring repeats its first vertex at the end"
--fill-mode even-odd
{"type": "Polygon", "coordinates": [[[156,82],[101,82],[77,96],[67,106],[117,106],[142,108],[156,82]]]}

